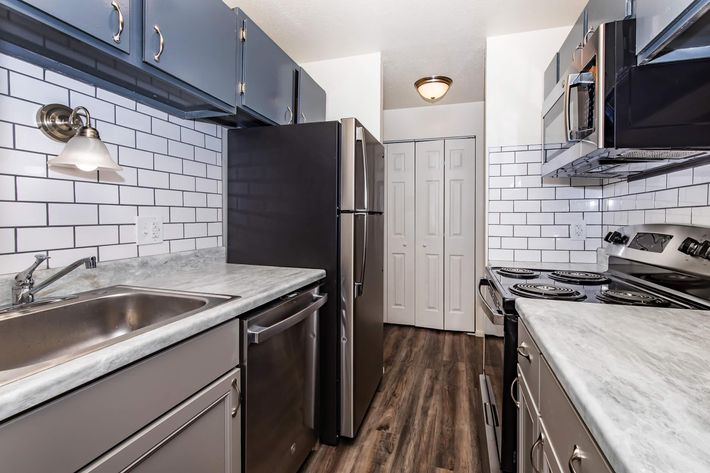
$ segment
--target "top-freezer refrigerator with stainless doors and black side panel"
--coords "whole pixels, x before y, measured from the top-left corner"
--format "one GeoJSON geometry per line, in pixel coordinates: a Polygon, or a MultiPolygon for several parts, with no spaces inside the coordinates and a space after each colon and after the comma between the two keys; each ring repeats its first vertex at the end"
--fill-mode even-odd
{"type": "Polygon", "coordinates": [[[383,370],[384,147],[347,118],[230,130],[228,159],[227,261],[326,270],[319,436],[355,437],[383,370]]]}

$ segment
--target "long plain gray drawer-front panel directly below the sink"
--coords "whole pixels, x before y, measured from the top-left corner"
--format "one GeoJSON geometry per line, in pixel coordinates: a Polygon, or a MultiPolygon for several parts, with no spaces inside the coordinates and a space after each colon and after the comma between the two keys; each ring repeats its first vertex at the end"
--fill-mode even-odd
{"type": "Polygon", "coordinates": [[[0,470],[77,471],[238,364],[234,320],[0,425],[0,470]]]}

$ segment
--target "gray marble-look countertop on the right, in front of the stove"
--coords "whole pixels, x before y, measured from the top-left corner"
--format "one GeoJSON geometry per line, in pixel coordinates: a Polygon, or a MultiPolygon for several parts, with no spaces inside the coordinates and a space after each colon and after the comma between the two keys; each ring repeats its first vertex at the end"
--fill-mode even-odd
{"type": "Polygon", "coordinates": [[[710,471],[710,311],[516,307],[615,473],[710,471]]]}

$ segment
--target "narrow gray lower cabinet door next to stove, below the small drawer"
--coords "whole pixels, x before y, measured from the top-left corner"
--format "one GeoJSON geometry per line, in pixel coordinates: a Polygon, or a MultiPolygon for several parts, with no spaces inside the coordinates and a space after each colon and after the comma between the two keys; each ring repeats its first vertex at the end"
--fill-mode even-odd
{"type": "Polygon", "coordinates": [[[518,370],[518,473],[538,473],[542,431],[525,378],[518,370]],[[533,465],[535,462],[535,465],[533,465]]]}

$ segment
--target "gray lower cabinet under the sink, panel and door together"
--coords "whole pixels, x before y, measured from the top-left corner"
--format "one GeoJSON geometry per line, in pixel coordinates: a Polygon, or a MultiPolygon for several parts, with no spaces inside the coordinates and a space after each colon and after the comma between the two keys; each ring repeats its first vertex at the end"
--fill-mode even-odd
{"type": "Polygon", "coordinates": [[[239,472],[239,340],[226,322],[0,423],[0,471],[239,472]]]}

